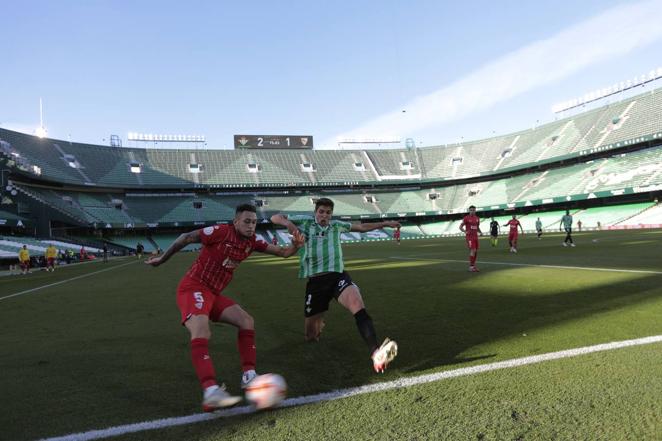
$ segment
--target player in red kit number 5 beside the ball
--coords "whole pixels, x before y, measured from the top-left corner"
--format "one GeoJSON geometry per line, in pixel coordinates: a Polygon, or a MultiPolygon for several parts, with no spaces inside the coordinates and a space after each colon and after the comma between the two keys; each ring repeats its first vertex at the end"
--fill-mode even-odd
{"type": "Polygon", "coordinates": [[[237,348],[244,372],[241,386],[245,388],[257,375],[255,372],[255,330],[253,317],[232,299],[223,295],[223,290],[232,280],[234,270],[253,251],[290,257],[303,245],[304,239],[298,232],[287,248],[267,244],[255,237],[257,224],[253,205],[237,207],[232,225],[216,225],[191,231],[179,236],[162,256],[149,258],[145,263],[159,266],[173,254],[192,243],[202,243],[202,249],[177,287],[177,306],[181,322],[191,334],[191,359],[195,373],[203,389],[202,408],[211,412],[222,407],[233,406],[241,397],[232,396],[219,386],[214,365],[209,356],[211,329],[209,321],[227,323],[238,329],[237,348]]]}

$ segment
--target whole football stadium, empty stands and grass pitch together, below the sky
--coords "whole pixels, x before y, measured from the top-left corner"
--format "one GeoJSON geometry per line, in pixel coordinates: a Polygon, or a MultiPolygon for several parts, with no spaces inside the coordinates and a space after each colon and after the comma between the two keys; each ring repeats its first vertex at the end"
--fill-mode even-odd
{"type": "Polygon", "coordinates": [[[198,135],[101,144],[0,125],[0,439],[662,439],[660,79],[656,68],[548,122],[451,143],[322,149],[301,125],[236,130],[226,149],[198,135]],[[340,268],[365,306],[355,313],[337,288],[308,341],[300,259],[332,251],[303,227],[299,243],[278,216],[310,218],[324,236],[327,199],[329,228],[346,226],[333,230],[340,268]],[[180,279],[216,231],[249,244],[229,255],[222,294],[250,326],[178,312],[180,279]],[[238,397],[203,401],[205,412],[192,317],[212,319],[205,357],[238,397]],[[287,383],[266,409],[239,381],[253,321],[253,373],[287,383]],[[381,348],[363,340],[386,337],[397,356],[376,373],[381,348]]]}

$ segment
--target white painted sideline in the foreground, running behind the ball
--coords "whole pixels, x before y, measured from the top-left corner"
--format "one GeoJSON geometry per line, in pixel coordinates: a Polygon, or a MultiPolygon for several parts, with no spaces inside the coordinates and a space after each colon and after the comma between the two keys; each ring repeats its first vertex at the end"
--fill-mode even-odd
{"type": "MultiPolygon", "coordinates": [[[[499,361],[496,363],[488,363],[477,366],[471,366],[460,369],[453,369],[450,371],[437,372],[435,374],[419,375],[417,377],[401,378],[394,381],[387,381],[384,383],[370,384],[367,386],[353,387],[348,389],[340,389],[331,392],[320,393],[316,395],[307,395],[303,397],[289,398],[280,407],[300,406],[304,404],[319,403],[322,401],[338,400],[341,398],[352,397],[355,395],[362,395],[372,392],[380,392],[391,389],[399,389],[402,387],[415,386],[418,384],[431,383],[433,381],[440,381],[448,378],[462,377],[465,375],[473,375],[481,372],[489,372],[497,369],[513,368],[518,366],[525,366],[529,364],[541,363],[543,361],[558,360],[561,358],[576,357],[578,355],[591,354],[594,352],[610,351],[613,349],[620,349],[629,346],[639,346],[651,343],[662,342],[662,335],[653,335],[650,337],[642,337],[634,340],[622,340],[611,343],[603,343],[594,346],[585,346],[582,348],[568,349],[565,351],[549,352],[547,354],[533,355],[529,357],[515,358],[512,360],[499,361]]],[[[141,423],[126,424],[123,426],[113,426],[107,429],[91,430],[89,432],[72,433],[69,435],[44,438],[41,441],[87,441],[92,439],[106,438],[110,436],[119,436],[126,433],[142,432],[145,430],[162,429],[173,426],[181,426],[184,424],[199,423],[202,421],[213,420],[216,418],[230,417],[234,415],[243,415],[256,412],[252,406],[235,407],[232,409],[219,411],[213,414],[193,414],[182,417],[164,418],[154,421],[143,421],[141,423]]]]}

